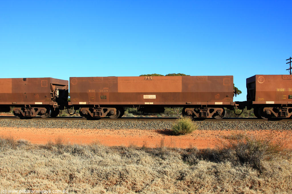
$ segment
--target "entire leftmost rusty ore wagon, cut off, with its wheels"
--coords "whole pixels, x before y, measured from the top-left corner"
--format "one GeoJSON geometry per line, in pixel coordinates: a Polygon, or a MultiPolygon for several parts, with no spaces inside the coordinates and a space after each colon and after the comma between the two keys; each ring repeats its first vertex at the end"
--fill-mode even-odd
{"type": "Polygon", "coordinates": [[[16,117],[55,117],[67,105],[68,81],[54,78],[0,79],[0,111],[16,117]]]}

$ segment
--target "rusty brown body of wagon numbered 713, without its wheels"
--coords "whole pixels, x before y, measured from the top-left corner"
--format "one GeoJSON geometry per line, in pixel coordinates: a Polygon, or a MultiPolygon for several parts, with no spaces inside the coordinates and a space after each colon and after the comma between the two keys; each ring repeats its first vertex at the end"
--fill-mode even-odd
{"type": "Polygon", "coordinates": [[[233,76],[70,77],[72,105],[234,105],[233,76]]]}

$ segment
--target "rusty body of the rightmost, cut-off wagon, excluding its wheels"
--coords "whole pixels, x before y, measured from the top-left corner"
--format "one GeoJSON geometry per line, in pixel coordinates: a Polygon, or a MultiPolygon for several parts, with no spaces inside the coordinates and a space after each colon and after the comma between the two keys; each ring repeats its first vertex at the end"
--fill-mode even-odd
{"type": "Polygon", "coordinates": [[[253,104],[292,105],[292,75],[255,75],[246,79],[246,87],[253,104]]]}

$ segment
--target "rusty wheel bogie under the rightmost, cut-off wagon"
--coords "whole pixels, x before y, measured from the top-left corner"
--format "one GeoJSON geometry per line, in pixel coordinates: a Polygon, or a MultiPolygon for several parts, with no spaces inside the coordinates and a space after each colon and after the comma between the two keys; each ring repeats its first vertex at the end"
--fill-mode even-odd
{"type": "Polygon", "coordinates": [[[263,119],[271,118],[272,116],[277,118],[289,118],[292,116],[292,107],[262,107],[258,111],[258,114],[263,119]]]}

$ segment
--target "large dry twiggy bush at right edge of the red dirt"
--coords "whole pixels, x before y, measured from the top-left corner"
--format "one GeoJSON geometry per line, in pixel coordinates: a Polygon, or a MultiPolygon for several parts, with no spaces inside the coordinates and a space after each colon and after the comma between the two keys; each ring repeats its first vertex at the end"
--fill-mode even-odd
{"type": "Polygon", "coordinates": [[[291,150],[287,149],[286,138],[275,142],[273,134],[260,137],[242,133],[231,134],[223,137],[217,149],[221,160],[225,158],[251,165],[260,172],[264,168],[263,161],[291,158],[291,150]]]}

